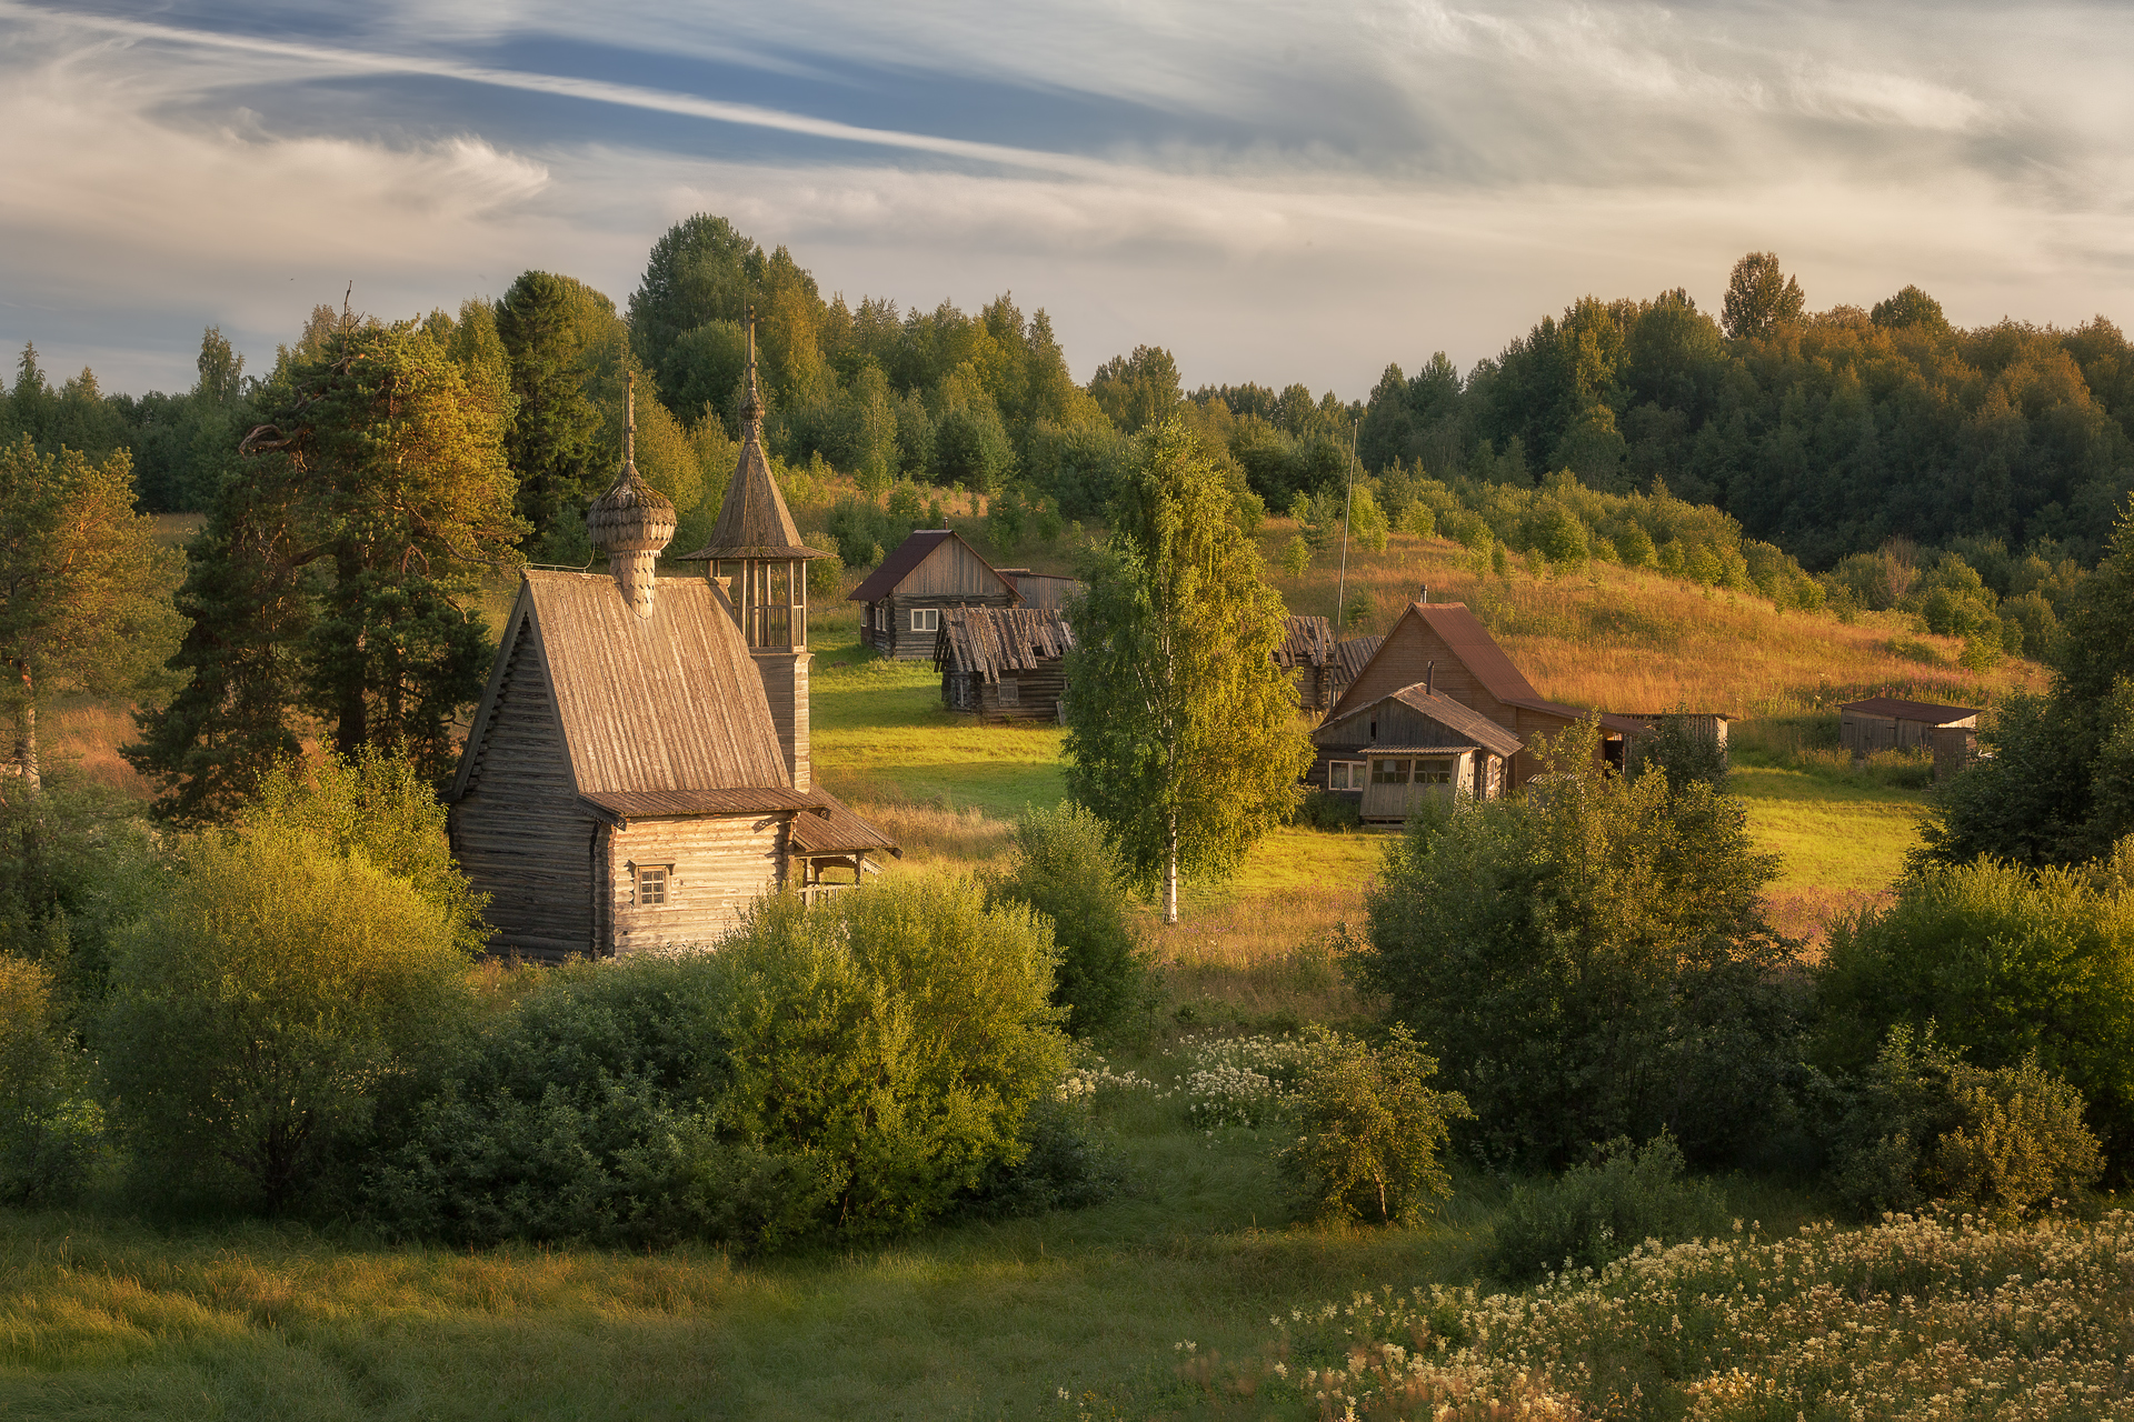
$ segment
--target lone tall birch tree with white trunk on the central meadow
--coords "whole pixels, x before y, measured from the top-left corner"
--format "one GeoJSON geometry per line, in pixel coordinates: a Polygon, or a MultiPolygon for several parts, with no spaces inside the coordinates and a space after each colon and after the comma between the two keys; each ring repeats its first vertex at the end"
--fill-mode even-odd
{"type": "Polygon", "coordinates": [[[1223,471],[1178,420],[1144,435],[1069,616],[1067,791],[1176,923],[1178,876],[1233,874],[1312,759],[1274,665],[1283,601],[1223,471]]]}

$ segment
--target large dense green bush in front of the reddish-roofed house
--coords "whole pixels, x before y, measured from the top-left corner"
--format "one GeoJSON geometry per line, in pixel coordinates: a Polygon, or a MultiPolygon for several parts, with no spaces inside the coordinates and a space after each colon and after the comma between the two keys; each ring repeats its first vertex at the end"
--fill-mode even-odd
{"type": "Polygon", "coordinates": [[[1795,944],[1763,917],[1775,859],[1735,799],[1605,776],[1596,740],[1588,721],[1541,744],[1554,772],[1524,799],[1411,819],[1355,972],[1440,1053],[1483,1160],[1662,1128],[1694,1158],[1754,1153],[1799,1034],[1795,944]]]}

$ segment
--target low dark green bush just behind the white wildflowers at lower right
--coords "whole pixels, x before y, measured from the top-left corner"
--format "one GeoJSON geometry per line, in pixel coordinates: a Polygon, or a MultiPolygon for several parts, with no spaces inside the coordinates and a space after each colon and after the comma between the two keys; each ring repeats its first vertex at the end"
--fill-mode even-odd
{"type": "Polygon", "coordinates": [[[1662,1245],[1722,1234],[1726,1200],[1682,1175],[1682,1147],[1658,1134],[1618,1136],[1547,1185],[1522,1185],[1498,1215],[1485,1269],[1507,1283],[1551,1271],[1600,1269],[1647,1239],[1662,1245]]]}

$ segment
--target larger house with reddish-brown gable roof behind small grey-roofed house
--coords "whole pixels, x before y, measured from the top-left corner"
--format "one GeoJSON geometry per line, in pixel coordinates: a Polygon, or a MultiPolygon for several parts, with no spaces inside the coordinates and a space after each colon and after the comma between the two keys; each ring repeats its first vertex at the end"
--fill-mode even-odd
{"type": "MultiPolygon", "coordinates": [[[[1534,736],[1554,736],[1596,714],[1534,691],[1466,603],[1408,603],[1325,721],[1338,721],[1417,684],[1481,712],[1522,742],[1507,770],[1507,789],[1517,789],[1541,772],[1534,753],[1526,748],[1534,736]]],[[[1622,770],[1624,748],[1650,727],[1635,716],[1598,712],[1598,718],[1600,763],[1622,770]]]]}

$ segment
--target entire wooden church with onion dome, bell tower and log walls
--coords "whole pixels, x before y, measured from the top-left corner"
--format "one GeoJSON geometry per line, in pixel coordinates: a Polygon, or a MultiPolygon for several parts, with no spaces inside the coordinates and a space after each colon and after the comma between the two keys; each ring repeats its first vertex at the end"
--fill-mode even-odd
{"type": "Polygon", "coordinates": [[[753,322],[740,463],[711,576],[655,578],[674,505],[623,471],[587,512],[606,573],[527,571],[452,782],[452,853],[493,949],[713,947],[764,893],[894,855],[809,774],[807,561],[762,448],[753,322]]]}

